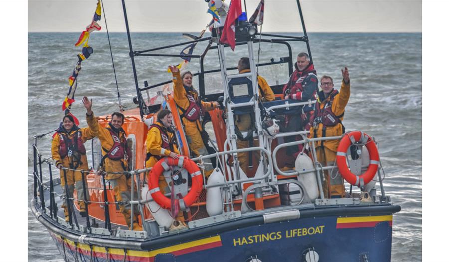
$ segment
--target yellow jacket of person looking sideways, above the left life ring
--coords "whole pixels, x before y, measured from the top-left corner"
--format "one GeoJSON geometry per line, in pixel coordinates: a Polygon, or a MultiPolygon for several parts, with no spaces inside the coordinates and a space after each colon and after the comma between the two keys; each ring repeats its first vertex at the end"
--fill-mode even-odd
{"type": "MultiPolygon", "coordinates": [[[[158,125],[159,127],[161,127],[162,130],[166,131],[165,133],[167,134],[168,141],[170,143],[170,141],[172,141],[174,138],[174,134],[170,131],[167,131],[167,129],[161,123],[155,122],[154,124],[158,125]]],[[[157,127],[151,127],[148,130],[147,140],[145,141],[145,148],[147,154],[150,153],[152,155],[169,156],[172,151],[170,151],[170,149],[162,148],[162,143],[163,141],[161,131],[157,127]]],[[[179,154],[178,148],[176,147],[175,144],[173,145],[173,152],[175,154],[179,154]]],[[[157,161],[158,159],[156,157],[151,156],[145,162],[145,167],[153,167],[157,161]]]]}

